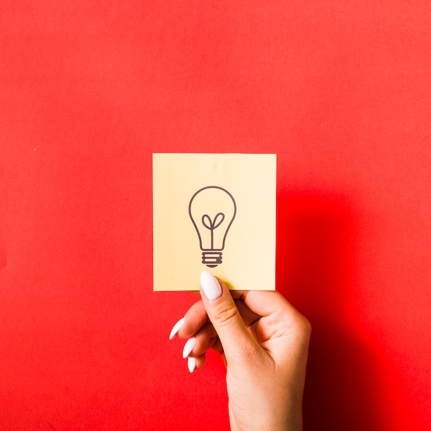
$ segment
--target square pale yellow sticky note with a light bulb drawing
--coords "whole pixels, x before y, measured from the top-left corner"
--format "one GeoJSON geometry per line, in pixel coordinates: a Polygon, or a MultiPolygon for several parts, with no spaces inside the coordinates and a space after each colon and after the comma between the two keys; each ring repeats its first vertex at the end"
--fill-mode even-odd
{"type": "Polygon", "coordinates": [[[153,154],[154,291],[275,290],[275,154],[153,154]]]}

